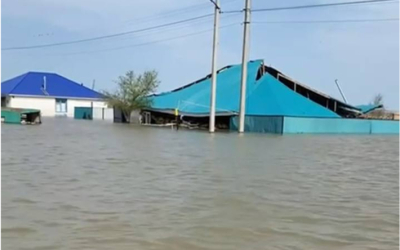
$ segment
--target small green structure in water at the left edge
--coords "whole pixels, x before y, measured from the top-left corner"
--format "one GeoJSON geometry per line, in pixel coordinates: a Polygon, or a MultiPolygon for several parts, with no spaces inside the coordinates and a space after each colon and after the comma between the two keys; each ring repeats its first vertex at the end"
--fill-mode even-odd
{"type": "Polygon", "coordinates": [[[1,122],[12,124],[41,124],[40,110],[1,108],[1,122]]]}

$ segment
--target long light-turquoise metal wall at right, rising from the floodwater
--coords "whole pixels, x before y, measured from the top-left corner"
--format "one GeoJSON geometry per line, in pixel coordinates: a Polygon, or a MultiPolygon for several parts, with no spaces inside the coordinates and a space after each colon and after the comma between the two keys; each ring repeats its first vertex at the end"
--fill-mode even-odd
{"type": "Polygon", "coordinates": [[[284,134],[399,134],[399,121],[284,117],[284,134]]]}

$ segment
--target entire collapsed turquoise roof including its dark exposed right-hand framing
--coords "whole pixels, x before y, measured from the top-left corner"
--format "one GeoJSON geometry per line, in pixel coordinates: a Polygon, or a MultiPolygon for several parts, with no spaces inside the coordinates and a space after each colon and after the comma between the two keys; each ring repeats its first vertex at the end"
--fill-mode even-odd
{"type": "MultiPolygon", "coordinates": [[[[239,112],[241,64],[218,70],[216,115],[239,112]]],[[[211,75],[170,92],[152,95],[151,111],[209,116],[211,75]]],[[[248,63],[246,115],[299,117],[356,117],[363,111],[301,84],[263,60],[248,63]]]]}

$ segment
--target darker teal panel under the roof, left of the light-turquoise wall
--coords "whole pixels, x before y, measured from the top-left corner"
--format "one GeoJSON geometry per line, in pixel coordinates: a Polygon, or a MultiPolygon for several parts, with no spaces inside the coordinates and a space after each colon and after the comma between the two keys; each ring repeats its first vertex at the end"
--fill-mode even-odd
{"type": "MultiPolygon", "coordinates": [[[[230,129],[238,130],[239,118],[231,117],[230,129]]],[[[282,134],[283,117],[282,116],[245,116],[244,130],[254,133],[274,133],[282,134]]]]}

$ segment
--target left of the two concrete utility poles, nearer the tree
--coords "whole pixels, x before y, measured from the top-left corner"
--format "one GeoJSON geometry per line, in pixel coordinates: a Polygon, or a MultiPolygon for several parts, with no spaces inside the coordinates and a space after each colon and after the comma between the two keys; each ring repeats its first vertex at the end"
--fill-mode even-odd
{"type": "Polygon", "coordinates": [[[215,99],[217,92],[217,53],[218,53],[218,36],[219,36],[219,16],[221,9],[219,7],[219,0],[210,0],[215,6],[214,14],[214,39],[213,39],[213,52],[212,52],[212,66],[211,66],[211,98],[210,98],[210,124],[209,131],[215,131],[215,99]]]}

